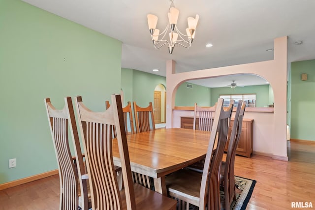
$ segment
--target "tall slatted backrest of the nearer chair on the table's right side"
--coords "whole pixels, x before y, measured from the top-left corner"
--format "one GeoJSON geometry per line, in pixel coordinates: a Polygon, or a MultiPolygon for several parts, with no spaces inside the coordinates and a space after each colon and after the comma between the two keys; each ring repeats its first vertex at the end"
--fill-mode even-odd
{"type": "Polygon", "coordinates": [[[218,99],[216,115],[211,129],[209,146],[202,173],[199,200],[199,208],[202,210],[204,210],[206,206],[208,206],[208,210],[220,209],[220,166],[234,103],[234,100],[231,100],[229,107],[224,111],[222,107],[223,101],[222,98],[218,99]],[[216,138],[218,138],[217,148],[213,154],[216,138]]]}

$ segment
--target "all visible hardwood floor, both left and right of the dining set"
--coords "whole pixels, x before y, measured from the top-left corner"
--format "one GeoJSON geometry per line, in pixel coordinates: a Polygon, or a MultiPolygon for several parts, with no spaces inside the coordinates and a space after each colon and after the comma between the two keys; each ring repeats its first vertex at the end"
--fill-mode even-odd
{"type": "MultiPolygon", "coordinates": [[[[248,210],[287,210],[291,202],[315,208],[315,143],[288,142],[289,161],[236,157],[235,175],[256,180],[248,210]]],[[[59,176],[0,191],[0,210],[58,210],[59,176]]]]}

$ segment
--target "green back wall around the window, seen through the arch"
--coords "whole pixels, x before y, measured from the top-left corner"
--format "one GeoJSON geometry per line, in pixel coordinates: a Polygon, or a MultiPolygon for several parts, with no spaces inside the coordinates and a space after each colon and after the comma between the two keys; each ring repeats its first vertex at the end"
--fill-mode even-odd
{"type": "Polygon", "coordinates": [[[269,97],[269,92],[273,92],[269,89],[269,85],[256,85],[232,88],[212,88],[211,89],[211,106],[214,106],[218,101],[219,95],[223,94],[256,94],[256,107],[264,107],[273,103],[269,97]]]}

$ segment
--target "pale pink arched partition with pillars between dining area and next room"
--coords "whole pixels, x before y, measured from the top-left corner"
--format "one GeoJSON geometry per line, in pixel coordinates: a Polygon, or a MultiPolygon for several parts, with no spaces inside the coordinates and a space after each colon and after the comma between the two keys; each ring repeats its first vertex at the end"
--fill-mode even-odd
{"type": "MultiPolygon", "coordinates": [[[[166,63],[166,85],[167,85],[167,105],[166,105],[166,127],[173,127],[173,109],[175,107],[175,94],[179,85],[191,79],[203,79],[218,77],[229,74],[252,73],[259,75],[270,82],[274,93],[274,109],[272,116],[260,123],[259,128],[267,125],[264,132],[268,133],[268,148],[263,151],[256,147],[256,151],[265,153],[275,159],[287,161],[286,152],[286,84],[287,84],[287,37],[276,38],[274,42],[274,60],[225,66],[212,69],[203,69],[193,72],[175,72],[175,61],[168,60],[166,63]]],[[[257,113],[257,112],[255,112],[257,113]]],[[[259,114],[259,113],[257,113],[259,114]]],[[[257,118],[259,119],[259,118],[257,118]]],[[[262,119],[262,118],[260,118],[262,119]]],[[[255,141],[255,140],[254,140],[255,141]]],[[[257,143],[262,141],[256,140],[257,143]]],[[[255,142],[254,142],[255,143],[255,142]]],[[[255,144],[254,144],[255,146],[255,144]]]]}

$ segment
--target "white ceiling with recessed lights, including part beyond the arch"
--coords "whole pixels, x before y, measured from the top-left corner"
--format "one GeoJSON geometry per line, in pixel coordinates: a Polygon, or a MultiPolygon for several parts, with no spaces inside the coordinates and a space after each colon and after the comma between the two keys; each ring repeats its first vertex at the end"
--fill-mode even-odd
{"type": "MultiPolygon", "coordinates": [[[[290,62],[315,59],[315,0],[174,0],[180,10],[178,28],[187,17],[200,19],[191,48],[154,49],[147,14],[158,16],[157,28],[167,24],[169,0],[23,0],[63,18],[123,42],[122,67],[165,76],[166,60],[176,61],[176,72],[272,60],[273,40],[288,36],[290,62]],[[295,41],[303,41],[295,45],[295,41]],[[213,47],[206,48],[207,43],[213,47]],[[153,72],[158,68],[160,71],[153,72]]],[[[252,75],[190,81],[207,87],[261,85],[252,75]]]]}

